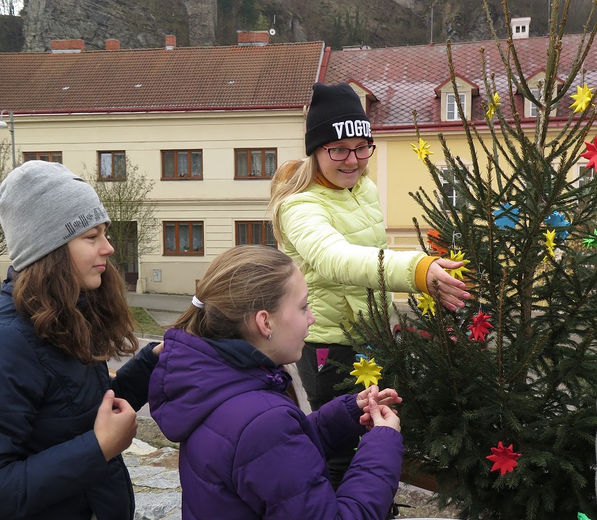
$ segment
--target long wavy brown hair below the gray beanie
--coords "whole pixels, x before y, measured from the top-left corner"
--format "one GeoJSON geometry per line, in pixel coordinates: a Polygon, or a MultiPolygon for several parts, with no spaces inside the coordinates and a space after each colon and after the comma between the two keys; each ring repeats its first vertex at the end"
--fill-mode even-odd
{"type": "Polygon", "coordinates": [[[139,347],[119,271],[106,261],[101,286],[80,291],[68,245],[14,273],[12,298],[35,333],[83,363],[134,354],[139,347]]]}

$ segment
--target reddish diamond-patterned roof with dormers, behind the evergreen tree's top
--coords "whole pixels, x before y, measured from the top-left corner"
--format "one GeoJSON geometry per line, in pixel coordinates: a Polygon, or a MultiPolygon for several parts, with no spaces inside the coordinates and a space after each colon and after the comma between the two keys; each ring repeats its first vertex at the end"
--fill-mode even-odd
{"type": "MultiPolygon", "coordinates": [[[[562,55],[558,77],[566,78],[573,58],[576,56],[581,35],[565,35],[562,40],[562,55]]],[[[503,49],[505,41],[501,40],[503,49]]],[[[514,40],[521,67],[526,78],[546,66],[548,37],[514,40]]],[[[478,85],[479,95],[474,96],[471,119],[484,119],[481,100],[487,104],[483,83],[481,55],[485,49],[486,69],[495,73],[496,89],[501,96],[501,109],[505,116],[511,115],[507,98],[508,81],[505,68],[493,41],[454,43],[451,45],[455,73],[461,78],[478,85]]],[[[585,60],[587,73],[583,82],[597,87],[597,44],[585,60]]],[[[440,98],[434,89],[449,80],[447,49],[445,44],[390,47],[352,51],[331,51],[327,64],[326,83],[337,83],[352,78],[370,89],[379,103],[372,103],[370,119],[377,130],[391,128],[412,128],[413,109],[417,110],[419,123],[440,124],[440,98]]],[[[572,84],[570,94],[576,94],[572,84]]],[[[524,99],[514,96],[517,112],[524,116],[524,99]]],[[[557,107],[557,116],[568,116],[573,100],[566,96],[557,107]]],[[[452,124],[453,123],[444,123],[452,124]]]]}

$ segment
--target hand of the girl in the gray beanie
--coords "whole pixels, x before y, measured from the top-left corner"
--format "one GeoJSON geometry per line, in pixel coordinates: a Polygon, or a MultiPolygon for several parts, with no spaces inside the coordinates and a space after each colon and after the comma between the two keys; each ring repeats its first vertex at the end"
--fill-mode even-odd
{"type": "Polygon", "coordinates": [[[98,408],[94,433],[105,460],[110,460],[130,446],[137,433],[137,413],[126,399],[114,397],[114,391],[108,390],[98,408]]]}

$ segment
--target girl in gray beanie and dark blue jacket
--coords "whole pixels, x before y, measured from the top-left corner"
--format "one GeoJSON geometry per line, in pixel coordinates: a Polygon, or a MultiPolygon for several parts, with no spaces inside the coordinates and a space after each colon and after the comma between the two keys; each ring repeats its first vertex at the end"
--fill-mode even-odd
{"type": "Polygon", "coordinates": [[[94,189],[30,161],[0,184],[0,519],[132,520],[121,452],[162,343],[139,344],[94,189]]]}

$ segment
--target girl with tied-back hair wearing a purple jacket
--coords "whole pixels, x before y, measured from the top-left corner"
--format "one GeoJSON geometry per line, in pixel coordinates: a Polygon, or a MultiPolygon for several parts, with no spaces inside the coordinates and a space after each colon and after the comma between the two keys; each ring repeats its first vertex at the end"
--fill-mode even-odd
{"type": "Polygon", "coordinates": [[[315,318],[306,283],[275,248],[216,258],[193,304],[164,336],[151,415],[180,442],[184,520],[379,520],[398,487],[395,390],[367,388],[305,415],[284,365],[315,318]],[[363,435],[336,491],[326,459],[363,435]]]}

